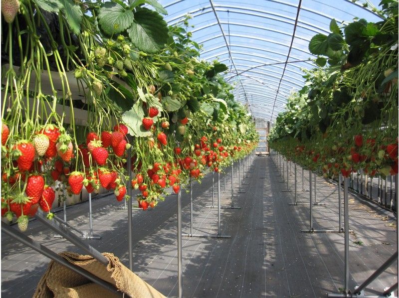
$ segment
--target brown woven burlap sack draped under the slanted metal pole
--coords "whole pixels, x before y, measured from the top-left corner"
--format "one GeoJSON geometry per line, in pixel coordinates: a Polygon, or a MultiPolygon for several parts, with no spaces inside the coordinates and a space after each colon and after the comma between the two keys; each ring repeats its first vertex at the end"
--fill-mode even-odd
{"type": "MultiPolygon", "coordinates": [[[[59,254],[69,263],[77,265],[98,278],[113,284],[125,297],[165,298],[136,274],[127,269],[111,253],[103,253],[109,260],[107,266],[92,256],[82,256],[71,252],[59,254]]],[[[57,262],[51,261],[36,288],[34,298],[113,298],[118,297],[100,285],[97,285],[57,262]]]]}

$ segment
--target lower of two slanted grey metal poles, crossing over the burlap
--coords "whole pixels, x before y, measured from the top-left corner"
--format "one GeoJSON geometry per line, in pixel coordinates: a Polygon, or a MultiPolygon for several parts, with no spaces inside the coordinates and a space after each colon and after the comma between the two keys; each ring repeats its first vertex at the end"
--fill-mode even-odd
{"type": "MultiPolygon", "coordinates": [[[[73,264],[69,263],[64,258],[62,258],[58,254],[54,253],[53,251],[51,251],[47,247],[45,247],[45,246],[33,241],[32,239],[30,239],[29,237],[25,236],[21,232],[11,228],[9,225],[2,223],[1,224],[1,231],[4,232],[5,234],[7,234],[8,236],[14,238],[15,240],[19,241],[23,245],[26,245],[27,247],[30,247],[31,249],[35,250],[36,252],[42,254],[43,256],[45,256],[45,257],[47,257],[47,258],[49,258],[49,259],[51,259],[51,260],[63,265],[63,266],[65,266],[66,268],[68,268],[68,269],[72,270],[73,272],[76,272],[77,274],[87,278],[88,280],[92,281],[93,283],[104,287],[105,289],[107,289],[111,293],[116,294],[116,295],[121,296],[121,297],[124,295],[124,293],[118,291],[118,289],[116,289],[114,285],[111,285],[111,284],[103,281],[102,279],[96,277],[95,275],[93,275],[90,272],[82,269],[79,266],[76,266],[76,265],[73,265],[73,264]]],[[[107,259],[106,262],[107,262],[107,264],[104,264],[104,265],[108,265],[108,259],[107,259]]]]}

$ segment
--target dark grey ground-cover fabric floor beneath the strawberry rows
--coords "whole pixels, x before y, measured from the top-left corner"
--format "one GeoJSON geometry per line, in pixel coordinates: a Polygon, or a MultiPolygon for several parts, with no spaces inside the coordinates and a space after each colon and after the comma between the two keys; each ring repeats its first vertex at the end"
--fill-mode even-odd
{"type": "MultiPolygon", "coordinates": [[[[293,169],[293,167],[292,167],[293,169]]],[[[226,173],[226,193],[221,205],[231,205],[231,168],[226,173]]],[[[235,171],[234,171],[235,172],[235,171]]],[[[302,188],[298,169],[298,190],[302,188]]],[[[221,234],[231,238],[183,237],[183,297],[326,297],[338,293],[344,278],[344,237],[339,233],[301,233],[309,228],[309,206],[290,206],[293,192],[282,192],[286,183],[278,176],[271,157],[255,157],[249,184],[234,184],[234,205],[221,209],[221,234]]],[[[308,172],[304,185],[309,189],[308,172]]],[[[234,183],[238,182],[234,178],[234,183]]],[[[293,176],[289,177],[293,188],[293,176]]],[[[312,175],[313,179],[313,175],[312,175]]],[[[205,208],[212,201],[211,174],[194,184],[194,233],[217,233],[217,209],[205,208]]],[[[241,182],[243,177],[241,173],[241,182]]],[[[224,176],[221,175],[221,190],[224,176]]],[[[298,202],[309,202],[309,192],[299,191],[298,202]]],[[[215,203],[217,175],[215,175],[215,203]]],[[[338,230],[338,189],[317,177],[317,200],[313,207],[315,229],[338,230]]],[[[95,234],[89,243],[112,252],[128,264],[126,210],[116,207],[114,197],[93,201],[95,234]]],[[[360,285],[396,251],[393,215],[350,197],[350,288],[360,285]]],[[[88,229],[87,203],[68,209],[68,222],[88,229]]],[[[183,193],[183,233],[190,232],[189,193],[183,193]]],[[[61,214],[58,214],[61,216],[61,214]]],[[[177,296],[176,196],[152,211],[134,211],[134,272],[168,297],[177,296]]],[[[29,225],[34,239],[50,249],[78,251],[65,240],[54,239],[37,221],[29,225]]],[[[87,241],[87,240],[84,240],[87,241]]],[[[31,297],[48,259],[1,234],[1,294],[31,297]]],[[[391,266],[366,290],[378,294],[397,282],[391,266]],[[374,289],[374,290],[373,290],[374,289]]]]}

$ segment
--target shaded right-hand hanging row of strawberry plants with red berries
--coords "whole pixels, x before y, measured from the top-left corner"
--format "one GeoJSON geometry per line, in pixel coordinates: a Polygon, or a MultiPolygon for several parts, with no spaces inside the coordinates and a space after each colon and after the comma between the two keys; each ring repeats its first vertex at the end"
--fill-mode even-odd
{"type": "Polygon", "coordinates": [[[325,177],[398,174],[398,1],[380,5],[380,22],[333,19],[311,39],[319,67],[269,135],[270,148],[325,177]]]}

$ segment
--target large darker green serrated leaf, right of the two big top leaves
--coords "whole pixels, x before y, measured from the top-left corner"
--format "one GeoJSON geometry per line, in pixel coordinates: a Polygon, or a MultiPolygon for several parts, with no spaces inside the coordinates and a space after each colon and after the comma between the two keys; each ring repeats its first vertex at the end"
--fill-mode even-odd
{"type": "Polygon", "coordinates": [[[137,8],[128,33],[132,42],[147,53],[159,51],[168,42],[166,21],[159,13],[148,8],[137,8]]]}

